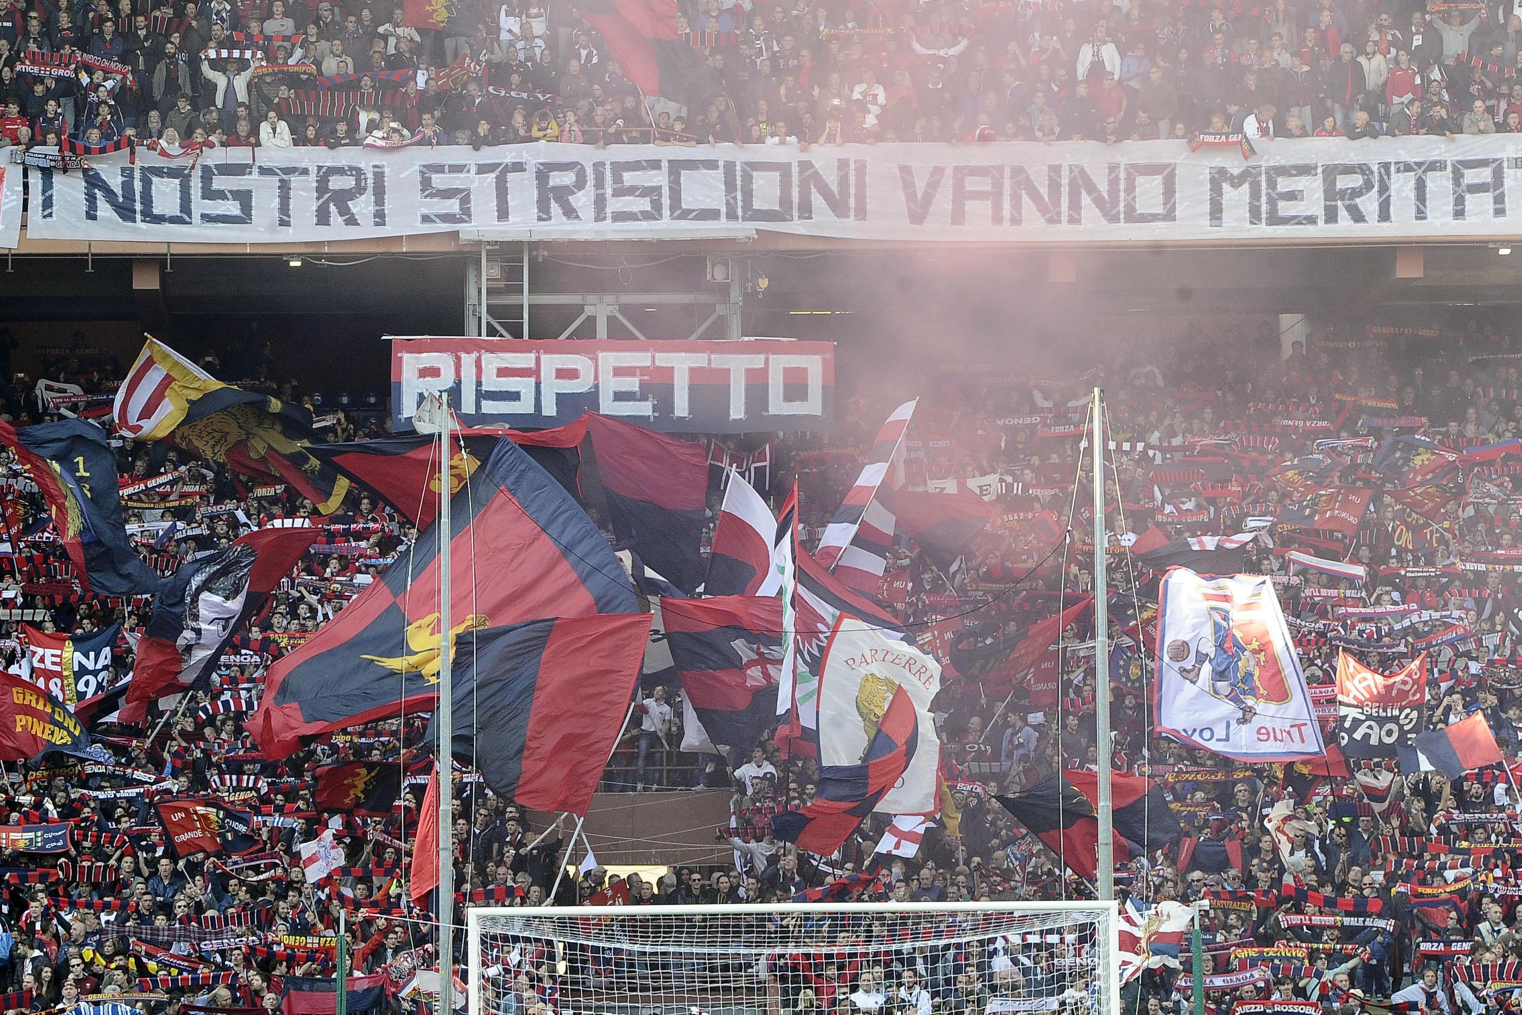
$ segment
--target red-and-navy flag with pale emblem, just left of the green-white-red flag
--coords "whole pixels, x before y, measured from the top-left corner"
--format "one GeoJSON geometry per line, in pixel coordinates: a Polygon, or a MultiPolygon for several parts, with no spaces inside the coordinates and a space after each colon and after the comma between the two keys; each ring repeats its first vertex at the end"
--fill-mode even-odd
{"type": "Polygon", "coordinates": [[[714,747],[755,747],[776,723],[782,600],[724,595],[661,600],[682,698],[714,747]]]}

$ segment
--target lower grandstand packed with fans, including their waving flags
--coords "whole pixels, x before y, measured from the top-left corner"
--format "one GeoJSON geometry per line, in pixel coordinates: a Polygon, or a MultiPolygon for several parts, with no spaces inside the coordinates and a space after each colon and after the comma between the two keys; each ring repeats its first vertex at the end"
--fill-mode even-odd
{"type": "MultiPolygon", "coordinates": [[[[1204,899],[1204,988],[1218,1012],[1504,1009],[1522,978],[1514,339],[1461,320],[1347,326],[1280,358],[1272,323],[1254,335],[1192,324],[1138,329],[1108,348],[1100,367],[1075,356],[1040,374],[944,364],[915,388],[842,377],[828,435],[674,437],[595,414],[513,440],[461,434],[470,481],[455,504],[472,513],[469,539],[522,527],[540,505],[556,514],[524,530],[516,551],[546,554],[533,557],[536,583],[478,590],[479,622],[455,621],[460,665],[479,665],[475,694],[487,700],[476,659],[492,657],[499,632],[543,624],[537,694],[549,694],[551,647],[568,624],[606,624],[597,686],[612,689],[591,689],[583,659],[569,718],[536,715],[511,732],[482,718],[472,746],[457,738],[455,921],[472,905],[1091,899],[1103,686],[1128,1007],[1187,1004],[1190,950],[1181,963],[1180,936],[1158,934],[1158,919],[1166,930],[1175,904],[1204,899]],[[1205,376],[1215,383],[1201,387],[1205,376]],[[1113,484],[1111,668],[1097,683],[1094,387],[1113,484]],[[661,493],[641,473],[662,476],[661,493]],[[842,545],[837,505],[863,482],[872,508],[842,545]],[[804,616],[784,621],[766,587],[767,530],[794,507],[804,616]],[[761,557],[747,534],[763,537],[761,557]],[[1177,565],[1262,577],[1298,659],[1278,674],[1283,695],[1257,642],[1257,662],[1212,656],[1212,644],[1233,644],[1219,632],[1198,657],[1172,653],[1173,592],[1161,584],[1189,574],[1177,565]],[[545,601],[519,603],[536,595],[545,601]],[[565,619],[587,595],[580,619],[565,619]],[[895,639],[871,642],[895,647],[881,659],[933,667],[939,682],[907,708],[924,717],[909,737],[918,753],[892,732],[898,694],[875,711],[855,700],[863,721],[871,711],[872,744],[898,750],[887,784],[866,778],[855,799],[804,747],[826,730],[828,695],[810,718],[779,673],[782,633],[817,624],[820,603],[866,618],[858,638],[895,639]],[[651,609],[664,630],[647,644],[651,609]],[[516,624],[513,610],[560,619],[493,627],[516,624]],[[1313,749],[1282,762],[1210,750],[1198,729],[1169,724],[1155,657],[1193,662],[1196,677],[1208,662],[1228,724],[1307,709],[1313,749]],[[1358,663],[1367,670],[1339,689],[1339,665],[1358,663]],[[1399,697],[1379,674],[1420,682],[1399,697]],[[557,772],[586,778],[546,788],[533,741],[568,721],[600,746],[562,750],[557,772]],[[1478,726],[1489,740],[1460,732],[1478,726]],[[928,761],[927,779],[910,753],[928,761]],[[919,782],[928,803],[860,807],[919,782]],[[594,790],[654,800],[700,787],[732,794],[712,828],[721,864],[619,875],[554,817],[584,814],[594,790]]],[[[353,971],[374,975],[368,1000],[350,989],[355,1004],[426,1003],[417,972],[437,966],[437,867],[419,858],[437,808],[425,800],[425,685],[438,651],[426,610],[437,607],[414,609],[405,592],[437,552],[437,504],[399,463],[426,461],[434,444],[388,434],[384,399],[339,405],[256,345],[193,350],[192,362],[149,341],[134,364],[78,333],[12,355],[38,376],[6,385],[0,428],[5,1007],[123,995],[172,1015],[320,1010],[323,983],[332,1004],[339,915],[353,971]],[[175,385],[189,385],[184,397],[154,400],[175,385]],[[113,470],[114,498],[100,493],[113,470]],[[73,519],[59,502],[76,505],[73,519]],[[345,612],[361,595],[367,606],[345,612]],[[417,654],[403,663],[397,651],[417,654]]],[[[476,560],[495,552],[460,539],[476,560]]],[[[799,653],[799,667],[819,670],[799,653]]],[[[458,702],[457,735],[475,715],[458,702]]],[[[872,945],[880,921],[836,930],[829,947],[746,966],[761,997],[770,989],[787,1010],[918,1015],[1090,1003],[1088,980],[1053,966],[1070,947],[1053,943],[1061,936],[1026,947],[1000,933],[927,954],[872,945]],[[846,942],[849,959],[833,951],[846,942]]],[[[495,959],[508,975],[490,1010],[511,1015],[571,1010],[560,991],[595,954],[495,959]]],[[[648,966],[639,975],[648,986],[648,966]]]]}

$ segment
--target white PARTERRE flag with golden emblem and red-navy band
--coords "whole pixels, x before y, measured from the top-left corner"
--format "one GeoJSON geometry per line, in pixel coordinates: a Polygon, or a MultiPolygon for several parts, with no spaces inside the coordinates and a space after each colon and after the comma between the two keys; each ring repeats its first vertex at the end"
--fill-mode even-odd
{"type": "Polygon", "coordinates": [[[933,811],[941,746],[928,709],[939,686],[930,656],[842,613],[819,673],[817,793],[772,819],[776,837],[828,857],[874,811],[933,811]]]}

